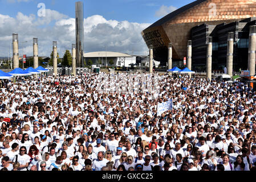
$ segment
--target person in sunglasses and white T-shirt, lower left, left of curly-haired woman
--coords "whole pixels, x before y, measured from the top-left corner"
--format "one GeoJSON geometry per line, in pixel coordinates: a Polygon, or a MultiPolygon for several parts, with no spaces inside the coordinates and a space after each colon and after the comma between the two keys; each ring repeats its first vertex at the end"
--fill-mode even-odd
{"type": "Polygon", "coordinates": [[[27,171],[27,167],[29,166],[30,156],[27,155],[27,148],[22,146],[19,148],[19,154],[15,155],[13,158],[13,164],[15,162],[19,162],[19,171],[27,171]]]}

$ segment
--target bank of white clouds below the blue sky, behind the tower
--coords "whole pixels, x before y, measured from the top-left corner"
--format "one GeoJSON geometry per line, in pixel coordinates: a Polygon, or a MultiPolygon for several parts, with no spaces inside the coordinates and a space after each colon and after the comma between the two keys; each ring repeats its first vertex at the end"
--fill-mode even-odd
{"type": "MultiPolygon", "coordinates": [[[[145,54],[148,50],[140,32],[150,24],[128,21],[107,20],[93,15],[84,19],[84,51],[116,51],[145,54]]],[[[32,38],[38,38],[39,55],[50,56],[52,41],[58,42],[62,56],[75,43],[75,18],[69,18],[58,11],[47,10],[46,17],[18,13],[15,18],[0,14],[1,56],[8,56],[12,34],[19,34],[19,53],[32,56],[32,38]]]]}

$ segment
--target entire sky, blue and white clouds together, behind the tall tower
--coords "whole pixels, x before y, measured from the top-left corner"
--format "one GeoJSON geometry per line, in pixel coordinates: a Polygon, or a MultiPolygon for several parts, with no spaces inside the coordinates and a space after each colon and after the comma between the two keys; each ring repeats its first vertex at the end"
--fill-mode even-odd
{"type": "MultiPolygon", "coordinates": [[[[84,51],[146,55],[140,32],[190,2],[193,0],[86,0],[84,51]]],[[[58,42],[62,56],[75,43],[75,1],[0,0],[0,56],[9,56],[13,33],[19,34],[20,55],[32,56],[32,38],[38,38],[39,56],[50,56],[52,41],[58,42]]]]}

